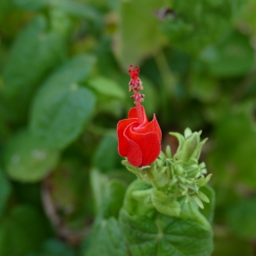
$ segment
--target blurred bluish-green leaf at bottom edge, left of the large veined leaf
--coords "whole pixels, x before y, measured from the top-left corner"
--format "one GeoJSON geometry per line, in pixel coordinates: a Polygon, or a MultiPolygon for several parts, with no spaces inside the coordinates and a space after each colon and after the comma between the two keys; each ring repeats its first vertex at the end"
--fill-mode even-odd
{"type": "Polygon", "coordinates": [[[90,241],[89,249],[83,256],[127,256],[123,235],[114,218],[97,219],[90,241]]]}

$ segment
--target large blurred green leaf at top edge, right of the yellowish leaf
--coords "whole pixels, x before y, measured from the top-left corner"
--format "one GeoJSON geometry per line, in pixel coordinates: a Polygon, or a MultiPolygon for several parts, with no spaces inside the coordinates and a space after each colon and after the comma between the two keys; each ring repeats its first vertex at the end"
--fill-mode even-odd
{"type": "Polygon", "coordinates": [[[240,5],[246,1],[197,0],[193,5],[179,0],[169,2],[172,12],[163,22],[165,34],[176,48],[197,54],[229,30],[240,5]]]}

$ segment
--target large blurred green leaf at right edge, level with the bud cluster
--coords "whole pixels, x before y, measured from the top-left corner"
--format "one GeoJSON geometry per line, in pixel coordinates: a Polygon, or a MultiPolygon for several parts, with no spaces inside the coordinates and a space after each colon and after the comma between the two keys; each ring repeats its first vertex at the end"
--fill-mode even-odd
{"type": "Polygon", "coordinates": [[[255,187],[256,131],[253,107],[247,108],[240,105],[232,111],[223,112],[216,124],[213,139],[217,146],[208,155],[208,165],[215,170],[216,178],[222,184],[238,181],[255,187]]]}

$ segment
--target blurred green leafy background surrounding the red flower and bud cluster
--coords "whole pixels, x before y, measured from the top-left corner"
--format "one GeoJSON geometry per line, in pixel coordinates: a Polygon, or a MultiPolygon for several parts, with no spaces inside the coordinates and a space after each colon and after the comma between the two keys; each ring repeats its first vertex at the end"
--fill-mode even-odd
{"type": "Polygon", "coordinates": [[[209,138],[213,255],[255,255],[255,13],[255,0],[0,0],[0,255],[100,255],[101,187],[123,182],[115,216],[134,178],[115,135],[130,64],[163,146],[186,127],[209,138]]]}

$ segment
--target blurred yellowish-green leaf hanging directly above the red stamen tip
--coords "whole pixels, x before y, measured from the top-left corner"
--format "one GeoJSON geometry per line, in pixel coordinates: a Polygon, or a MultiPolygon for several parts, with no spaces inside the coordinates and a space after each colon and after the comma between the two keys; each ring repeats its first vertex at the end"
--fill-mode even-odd
{"type": "Polygon", "coordinates": [[[121,21],[114,49],[124,69],[132,63],[138,64],[163,46],[164,37],[158,26],[160,21],[154,15],[163,4],[164,1],[155,0],[121,2],[121,21]]]}

